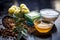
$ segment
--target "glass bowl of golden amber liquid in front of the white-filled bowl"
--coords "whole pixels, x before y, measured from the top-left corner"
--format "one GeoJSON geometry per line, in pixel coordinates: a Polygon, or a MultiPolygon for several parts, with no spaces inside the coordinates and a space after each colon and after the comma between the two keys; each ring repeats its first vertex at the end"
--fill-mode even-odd
{"type": "Polygon", "coordinates": [[[48,23],[43,22],[43,21],[35,21],[34,22],[34,27],[36,28],[37,31],[39,31],[40,33],[47,33],[52,29],[53,24],[52,23],[48,23]]]}

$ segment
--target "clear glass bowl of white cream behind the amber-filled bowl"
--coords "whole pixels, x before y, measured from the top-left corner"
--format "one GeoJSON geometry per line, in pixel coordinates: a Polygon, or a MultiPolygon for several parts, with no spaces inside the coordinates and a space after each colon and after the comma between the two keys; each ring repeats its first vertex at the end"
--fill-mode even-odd
{"type": "Polygon", "coordinates": [[[46,21],[55,21],[59,17],[59,12],[54,9],[42,9],[40,14],[46,21]]]}

